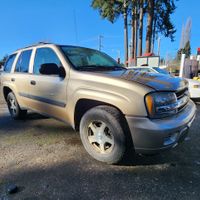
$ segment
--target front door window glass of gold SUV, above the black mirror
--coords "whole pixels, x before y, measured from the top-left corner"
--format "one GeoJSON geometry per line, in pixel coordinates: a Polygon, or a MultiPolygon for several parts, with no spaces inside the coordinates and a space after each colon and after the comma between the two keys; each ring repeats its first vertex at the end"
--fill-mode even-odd
{"type": "Polygon", "coordinates": [[[41,74],[40,69],[43,64],[49,64],[49,66],[53,66],[52,64],[56,64],[58,67],[62,66],[58,56],[50,48],[37,49],[36,55],[35,55],[33,73],[41,74]]]}

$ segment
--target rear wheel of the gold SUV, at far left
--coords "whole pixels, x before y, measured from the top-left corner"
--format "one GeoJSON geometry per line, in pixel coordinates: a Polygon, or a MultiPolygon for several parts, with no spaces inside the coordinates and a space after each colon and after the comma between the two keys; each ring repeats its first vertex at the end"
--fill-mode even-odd
{"type": "Polygon", "coordinates": [[[17,99],[13,92],[10,92],[7,96],[7,105],[10,115],[13,119],[24,119],[27,110],[22,110],[17,102],[17,99]]]}

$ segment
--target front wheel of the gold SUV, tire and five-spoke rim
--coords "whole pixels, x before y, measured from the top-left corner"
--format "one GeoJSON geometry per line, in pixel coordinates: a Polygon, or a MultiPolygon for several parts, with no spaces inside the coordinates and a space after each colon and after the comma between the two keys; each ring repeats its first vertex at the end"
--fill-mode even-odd
{"type": "Polygon", "coordinates": [[[126,150],[123,122],[120,112],[110,106],[97,106],[87,111],[80,122],[80,137],[86,151],[101,162],[116,164],[121,161],[126,150]]]}

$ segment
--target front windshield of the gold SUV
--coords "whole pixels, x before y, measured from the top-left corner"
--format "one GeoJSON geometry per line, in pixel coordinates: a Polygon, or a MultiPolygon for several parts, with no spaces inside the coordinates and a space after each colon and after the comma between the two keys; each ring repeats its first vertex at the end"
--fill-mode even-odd
{"type": "Polygon", "coordinates": [[[78,70],[121,70],[123,68],[105,53],[94,49],[74,46],[60,46],[60,48],[78,70]]]}

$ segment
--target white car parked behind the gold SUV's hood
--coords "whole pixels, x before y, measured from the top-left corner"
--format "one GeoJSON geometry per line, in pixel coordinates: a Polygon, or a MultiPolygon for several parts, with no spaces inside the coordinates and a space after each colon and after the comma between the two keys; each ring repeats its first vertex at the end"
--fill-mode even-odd
{"type": "MultiPolygon", "coordinates": [[[[170,75],[167,70],[161,69],[159,67],[131,67],[131,69],[139,70],[143,72],[150,73],[162,73],[166,75],[170,75]]],[[[200,100],[200,81],[193,79],[186,79],[189,83],[188,90],[191,99],[200,100]]]]}

